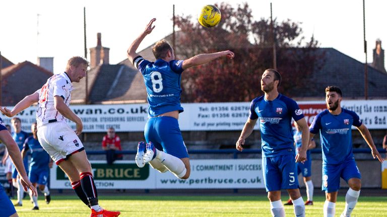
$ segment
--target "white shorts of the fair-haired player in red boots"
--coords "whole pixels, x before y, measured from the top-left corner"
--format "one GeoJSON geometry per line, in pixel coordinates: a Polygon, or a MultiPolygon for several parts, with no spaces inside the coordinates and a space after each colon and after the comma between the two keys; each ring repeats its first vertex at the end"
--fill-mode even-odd
{"type": "Polygon", "coordinates": [[[67,160],[72,154],[84,150],[77,134],[64,122],[53,122],[40,126],[38,140],[56,165],[67,160]]]}

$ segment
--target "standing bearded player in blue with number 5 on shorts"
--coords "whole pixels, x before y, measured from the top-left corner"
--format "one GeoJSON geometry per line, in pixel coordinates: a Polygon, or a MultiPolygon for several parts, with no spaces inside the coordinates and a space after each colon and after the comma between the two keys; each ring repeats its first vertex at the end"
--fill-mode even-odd
{"type": "Polygon", "coordinates": [[[306,160],[309,129],[297,102],[278,93],[281,74],[274,69],[265,70],[261,78],[261,89],[265,95],[254,98],[250,104],[250,116],[236,142],[242,151],[245,139],[252,133],[259,120],[262,138],[262,166],[264,181],[273,216],[285,216],[281,202],[281,189],[286,189],[292,199],[295,216],[305,216],[305,205],[301,197],[297,162],[306,160]],[[292,118],[302,131],[302,145],[297,155],[294,150],[292,118]]]}

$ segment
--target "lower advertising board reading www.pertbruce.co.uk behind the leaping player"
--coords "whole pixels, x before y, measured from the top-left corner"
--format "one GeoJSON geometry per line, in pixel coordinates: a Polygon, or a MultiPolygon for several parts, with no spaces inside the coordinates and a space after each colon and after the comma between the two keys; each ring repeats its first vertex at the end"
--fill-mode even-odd
{"type": "MultiPolygon", "coordinates": [[[[90,161],[98,189],[195,189],[195,188],[265,188],[261,159],[191,160],[189,179],[160,173],[135,161],[90,161]]],[[[50,188],[69,189],[71,183],[59,167],[50,170],[50,188]]]]}

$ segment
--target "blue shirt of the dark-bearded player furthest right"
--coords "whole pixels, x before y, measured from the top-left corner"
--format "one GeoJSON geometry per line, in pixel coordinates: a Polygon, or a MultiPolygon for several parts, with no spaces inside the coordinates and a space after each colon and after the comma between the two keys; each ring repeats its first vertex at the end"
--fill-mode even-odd
{"type": "Polygon", "coordinates": [[[310,125],[310,133],[320,133],[322,162],[341,164],[353,158],[351,127],[362,125],[359,116],[345,108],[340,115],[332,115],[328,110],[318,114],[310,125]]]}

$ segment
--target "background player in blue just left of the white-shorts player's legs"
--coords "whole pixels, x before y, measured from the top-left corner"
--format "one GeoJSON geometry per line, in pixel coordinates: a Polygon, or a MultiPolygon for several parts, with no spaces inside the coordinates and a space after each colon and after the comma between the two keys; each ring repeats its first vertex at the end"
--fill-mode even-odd
{"type": "MultiPolygon", "coordinates": [[[[24,142],[22,157],[25,157],[28,151],[31,152],[28,178],[30,179],[34,187],[39,184],[38,188],[42,193],[44,193],[44,199],[48,204],[51,201],[51,196],[50,191],[48,190],[47,182],[49,178],[49,169],[52,167],[53,161],[51,160],[47,152],[43,149],[43,147],[40,145],[38,141],[37,131],[38,128],[36,126],[36,123],[33,123],[31,125],[32,136],[28,137],[24,142]]],[[[31,193],[32,192],[30,191],[30,198],[34,203],[34,207],[32,209],[38,210],[38,196],[34,196],[31,193]]]]}

